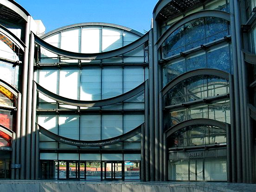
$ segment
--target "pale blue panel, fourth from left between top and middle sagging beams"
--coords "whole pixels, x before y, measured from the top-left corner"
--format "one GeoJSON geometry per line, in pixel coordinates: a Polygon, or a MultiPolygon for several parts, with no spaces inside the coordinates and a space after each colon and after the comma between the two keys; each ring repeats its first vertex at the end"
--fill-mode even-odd
{"type": "Polygon", "coordinates": [[[102,99],[122,94],[122,69],[104,68],[102,70],[102,99]]]}

